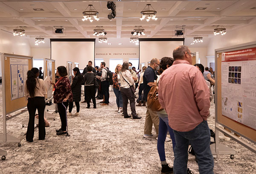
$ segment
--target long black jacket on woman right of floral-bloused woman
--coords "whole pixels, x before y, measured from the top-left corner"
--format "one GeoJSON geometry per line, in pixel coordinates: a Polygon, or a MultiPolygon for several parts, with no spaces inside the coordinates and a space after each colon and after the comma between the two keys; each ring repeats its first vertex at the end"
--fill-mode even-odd
{"type": "Polygon", "coordinates": [[[73,93],[73,102],[80,102],[81,101],[81,84],[83,81],[83,76],[76,75],[73,79],[71,84],[71,90],[73,93]]]}

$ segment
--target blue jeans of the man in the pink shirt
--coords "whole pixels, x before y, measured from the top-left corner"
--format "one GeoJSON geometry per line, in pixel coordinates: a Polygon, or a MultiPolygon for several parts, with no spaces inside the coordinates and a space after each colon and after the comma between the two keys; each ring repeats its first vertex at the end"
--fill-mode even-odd
{"type": "Polygon", "coordinates": [[[174,150],[173,170],[175,174],[187,173],[188,147],[192,145],[198,159],[200,174],[213,174],[213,157],[210,149],[210,130],[207,121],[201,122],[188,132],[175,131],[176,146],[174,150]]]}

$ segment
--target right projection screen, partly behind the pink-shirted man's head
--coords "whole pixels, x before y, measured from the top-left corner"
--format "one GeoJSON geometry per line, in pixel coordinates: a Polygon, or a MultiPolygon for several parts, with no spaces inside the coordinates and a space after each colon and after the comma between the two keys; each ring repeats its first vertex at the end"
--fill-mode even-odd
{"type": "Polygon", "coordinates": [[[152,58],[161,59],[163,57],[172,57],[173,50],[184,45],[184,38],[142,38],[140,41],[140,64],[148,62],[152,58]]]}

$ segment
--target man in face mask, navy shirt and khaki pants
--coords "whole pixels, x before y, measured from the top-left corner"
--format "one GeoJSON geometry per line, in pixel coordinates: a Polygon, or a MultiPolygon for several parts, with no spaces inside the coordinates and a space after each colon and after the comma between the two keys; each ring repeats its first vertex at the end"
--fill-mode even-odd
{"type": "MultiPolygon", "coordinates": [[[[157,58],[153,58],[150,61],[148,68],[145,70],[143,75],[143,99],[147,102],[148,92],[151,87],[156,85],[157,75],[155,73],[156,70],[159,70],[160,61],[157,58]]],[[[158,126],[159,126],[159,117],[157,116],[156,111],[152,111],[147,107],[146,118],[145,118],[145,126],[144,126],[144,138],[155,138],[156,136],[152,135],[152,126],[154,124],[154,128],[158,135],[158,126]]]]}

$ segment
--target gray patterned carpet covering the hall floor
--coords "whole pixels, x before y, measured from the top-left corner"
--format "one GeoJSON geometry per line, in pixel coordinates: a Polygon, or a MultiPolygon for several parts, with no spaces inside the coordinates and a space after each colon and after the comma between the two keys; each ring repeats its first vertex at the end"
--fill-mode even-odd
{"type": "MultiPolygon", "coordinates": [[[[0,99],[2,112],[2,98],[0,99]]],[[[28,119],[27,112],[8,120],[7,131],[21,139],[21,147],[17,147],[17,143],[0,143],[0,148],[8,153],[6,160],[0,160],[0,173],[160,174],[157,140],[143,138],[146,108],[136,107],[142,119],[124,119],[117,113],[115,99],[114,93],[110,92],[110,105],[100,106],[100,101],[97,100],[97,109],[87,109],[86,104],[80,103],[80,116],[68,117],[69,137],[56,135],[55,128],[60,128],[58,114],[55,114],[55,120],[49,120],[51,125],[46,128],[46,139],[38,140],[36,128],[32,143],[27,143],[25,136],[21,136],[26,131],[26,125],[22,128],[22,122],[28,119]]],[[[208,124],[213,130],[214,107],[212,101],[212,116],[208,124]]],[[[52,111],[49,110],[50,113],[52,111]]],[[[2,130],[1,117],[0,133],[2,130]]],[[[236,155],[235,159],[230,159],[229,154],[218,155],[215,159],[215,174],[256,172],[255,154],[233,140],[221,140],[221,143],[235,149],[236,155]]],[[[173,165],[172,142],[166,142],[166,158],[173,165]]],[[[195,174],[199,173],[195,157],[191,155],[188,167],[195,174]]]]}

